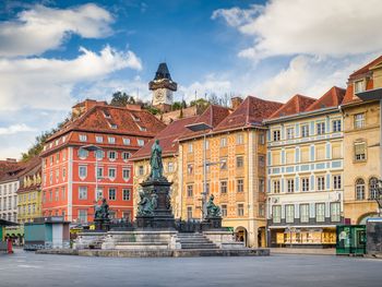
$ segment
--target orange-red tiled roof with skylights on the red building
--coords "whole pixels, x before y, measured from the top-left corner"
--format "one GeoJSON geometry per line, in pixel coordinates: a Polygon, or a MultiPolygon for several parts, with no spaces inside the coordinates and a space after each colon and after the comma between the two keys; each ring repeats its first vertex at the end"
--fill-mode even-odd
{"type": "Polygon", "coordinates": [[[97,105],[65,124],[48,142],[73,130],[152,137],[165,127],[165,123],[146,110],[97,105]]]}

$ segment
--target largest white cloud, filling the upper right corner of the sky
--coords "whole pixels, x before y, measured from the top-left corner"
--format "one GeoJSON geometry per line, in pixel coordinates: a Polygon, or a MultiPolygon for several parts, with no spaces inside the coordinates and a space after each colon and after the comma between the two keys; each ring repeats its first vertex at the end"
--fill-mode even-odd
{"type": "Polygon", "coordinates": [[[380,0],[273,0],[262,9],[217,10],[213,17],[217,16],[253,37],[253,46],[239,56],[255,60],[298,53],[342,57],[382,49],[380,0]]]}

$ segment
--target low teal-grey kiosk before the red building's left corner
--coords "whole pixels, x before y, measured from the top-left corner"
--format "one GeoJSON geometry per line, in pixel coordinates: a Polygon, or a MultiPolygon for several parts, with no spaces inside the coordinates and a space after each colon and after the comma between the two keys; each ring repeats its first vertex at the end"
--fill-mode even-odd
{"type": "Polygon", "coordinates": [[[70,222],[63,217],[40,217],[24,224],[24,250],[70,248],[70,222]]]}

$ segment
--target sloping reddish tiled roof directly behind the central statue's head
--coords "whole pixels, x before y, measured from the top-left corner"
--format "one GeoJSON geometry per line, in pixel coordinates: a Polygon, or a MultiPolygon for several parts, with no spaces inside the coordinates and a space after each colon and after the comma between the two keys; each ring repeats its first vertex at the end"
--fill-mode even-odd
{"type": "Polygon", "coordinates": [[[150,157],[152,145],[156,140],[159,140],[163,156],[178,154],[178,137],[188,131],[186,125],[192,123],[196,118],[198,116],[171,122],[166,129],[159,132],[155,139],[152,139],[141,150],[134,153],[131,159],[134,160],[150,157]]]}

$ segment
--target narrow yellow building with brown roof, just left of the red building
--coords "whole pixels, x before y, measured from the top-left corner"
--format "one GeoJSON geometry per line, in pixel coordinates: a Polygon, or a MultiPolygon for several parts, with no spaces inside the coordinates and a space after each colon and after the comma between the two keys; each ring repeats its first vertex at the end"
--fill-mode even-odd
{"type": "Polygon", "coordinates": [[[31,159],[27,167],[20,176],[17,190],[17,222],[31,223],[36,217],[41,217],[41,162],[38,156],[31,159]]]}

